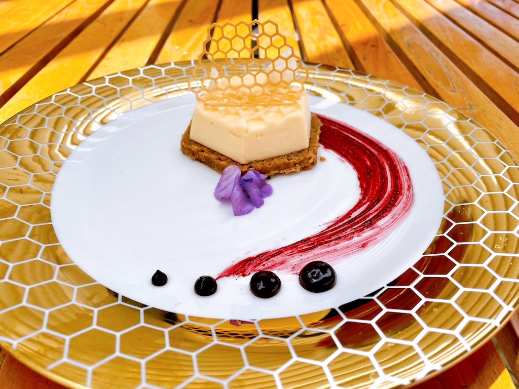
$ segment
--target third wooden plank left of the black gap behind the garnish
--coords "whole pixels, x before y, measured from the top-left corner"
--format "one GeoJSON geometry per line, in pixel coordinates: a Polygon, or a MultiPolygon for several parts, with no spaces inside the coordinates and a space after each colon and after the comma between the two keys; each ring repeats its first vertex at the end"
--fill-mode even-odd
{"type": "Polygon", "coordinates": [[[182,0],[151,0],[88,78],[146,65],[182,0]]]}

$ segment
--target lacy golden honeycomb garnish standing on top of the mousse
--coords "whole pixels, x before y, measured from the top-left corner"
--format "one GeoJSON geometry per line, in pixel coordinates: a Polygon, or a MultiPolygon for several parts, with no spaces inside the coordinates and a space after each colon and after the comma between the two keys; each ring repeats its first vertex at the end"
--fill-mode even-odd
{"type": "Polygon", "coordinates": [[[304,90],[308,70],[275,22],[214,23],[203,47],[189,90],[206,105],[294,104],[304,90]]]}

